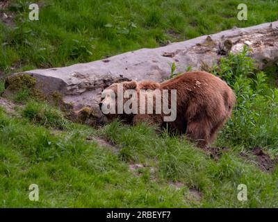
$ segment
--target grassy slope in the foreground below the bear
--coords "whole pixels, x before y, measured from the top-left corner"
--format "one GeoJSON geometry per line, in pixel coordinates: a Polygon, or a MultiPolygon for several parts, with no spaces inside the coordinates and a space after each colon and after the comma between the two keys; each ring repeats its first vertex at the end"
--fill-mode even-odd
{"type": "Polygon", "coordinates": [[[278,207],[278,169],[263,173],[238,157],[239,148],[215,161],[185,139],[158,137],[145,126],[66,126],[53,130],[1,111],[1,207],[278,207]],[[100,148],[86,139],[92,135],[121,151],[100,148]],[[131,171],[134,162],[147,167],[131,171]],[[171,185],[175,181],[180,189],[171,185]],[[40,188],[38,202],[28,200],[32,183],[40,188]],[[248,187],[248,201],[236,199],[240,183],[248,187]]]}

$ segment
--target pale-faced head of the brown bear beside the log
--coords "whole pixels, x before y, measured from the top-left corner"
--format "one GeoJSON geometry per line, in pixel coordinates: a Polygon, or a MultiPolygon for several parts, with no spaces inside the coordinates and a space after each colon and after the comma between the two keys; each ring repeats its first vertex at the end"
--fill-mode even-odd
{"type": "Polygon", "coordinates": [[[113,83],[101,93],[99,108],[109,120],[118,118],[123,121],[131,121],[133,114],[125,112],[124,104],[137,93],[138,83],[136,81],[113,83]]]}

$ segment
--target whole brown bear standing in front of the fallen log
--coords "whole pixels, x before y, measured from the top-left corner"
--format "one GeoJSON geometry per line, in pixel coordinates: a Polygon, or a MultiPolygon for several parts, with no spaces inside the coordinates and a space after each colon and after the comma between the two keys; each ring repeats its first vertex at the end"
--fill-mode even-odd
{"type": "Polygon", "coordinates": [[[114,113],[105,113],[108,119],[120,118],[133,124],[147,122],[151,125],[156,124],[160,128],[167,127],[177,133],[185,133],[189,139],[197,142],[198,146],[206,146],[213,142],[220,128],[231,116],[232,108],[236,102],[236,96],[227,83],[205,71],[190,71],[163,83],[153,81],[114,83],[106,89],[115,93],[114,98],[104,94],[104,98],[99,103],[100,108],[103,108],[103,105],[107,107],[108,103],[115,105],[116,111],[114,113]],[[137,106],[137,110],[131,111],[129,109],[129,112],[126,112],[122,109],[122,112],[117,112],[119,111],[117,110],[119,107],[117,102],[120,98],[118,89],[121,88],[124,93],[133,89],[135,94],[129,94],[122,101],[123,104],[129,101],[127,107],[137,106]],[[142,89],[148,90],[141,94],[142,89]],[[166,94],[162,92],[166,92],[166,94]],[[170,95],[172,92],[175,92],[173,94],[176,96],[172,97],[170,95]],[[173,110],[176,112],[176,117],[172,121],[165,121],[169,112],[167,114],[165,110],[157,112],[157,108],[163,106],[163,104],[161,105],[163,99],[158,97],[162,94],[163,96],[167,95],[166,108],[175,109],[173,110]],[[153,112],[147,111],[146,113],[149,101],[145,104],[141,104],[141,101],[147,99],[149,95],[153,96],[150,100],[153,112]],[[131,104],[135,99],[138,101],[131,104]],[[138,111],[142,105],[145,107],[142,109],[145,112],[138,111]]]}

